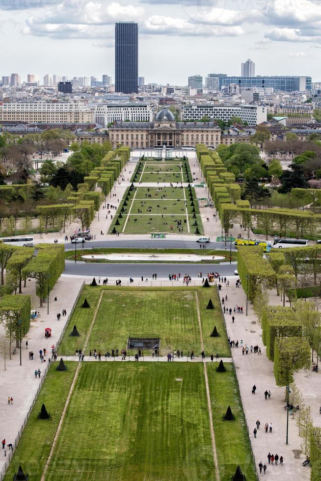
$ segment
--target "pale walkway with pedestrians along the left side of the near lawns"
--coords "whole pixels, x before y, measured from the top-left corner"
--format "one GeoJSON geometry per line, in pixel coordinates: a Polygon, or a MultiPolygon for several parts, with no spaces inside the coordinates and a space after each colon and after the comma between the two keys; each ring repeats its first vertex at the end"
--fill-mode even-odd
{"type": "MultiPolygon", "coordinates": [[[[50,293],[49,315],[47,315],[47,304],[39,307],[39,299],[36,297],[34,281],[27,282],[27,287],[23,289],[23,294],[31,294],[31,306],[40,312],[41,317],[31,321],[30,329],[27,336],[21,342],[22,365],[20,366],[20,352],[16,348],[16,353],[12,355],[12,360],[6,360],[6,371],[4,371],[4,362],[0,359],[0,436],[6,440],[6,444],[13,443],[18,431],[24,423],[29,411],[30,405],[37,393],[41,379],[35,378],[35,369],[40,369],[41,378],[48,364],[48,355],[51,354],[51,346],[56,344],[67,322],[68,315],[75,302],[77,294],[83,283],[82,278],[67,279],[60,277],[54,290],[50,293]],[[57,296],[57,301],[54,297],[57,296]],[[57,321],[56,314],[61,313],[62,309],[66,309],[67,316],[57,321]],[[52,337],[45,338],[45,328],[52,328],[52,337]],[[28,348],[26,349],[26,341],[28,348]],[[47,362],[42,363],[39,357],[39,350],[47,350],[47,362]],[[34,352],[33,361],[29,360],[29,351],[34,352]],[[8,405],[8,396],[13,398],[13,404],[8,405]]],[[[0,327],[0,335],[3,334],[3,328],[0,327]]],[[[14,343],[15,344],[15,343],[14,343]]],[[[11,351],[14,349],[14,344],[11,351]]],[[[7,450],[8,452],[8,450],[7,450]]],[[[3,452],[0,456],[0,471],[7,460],[3,452]]]]}

